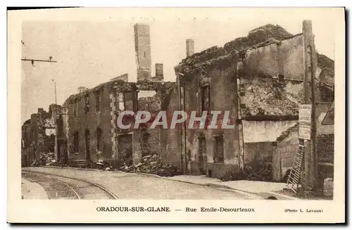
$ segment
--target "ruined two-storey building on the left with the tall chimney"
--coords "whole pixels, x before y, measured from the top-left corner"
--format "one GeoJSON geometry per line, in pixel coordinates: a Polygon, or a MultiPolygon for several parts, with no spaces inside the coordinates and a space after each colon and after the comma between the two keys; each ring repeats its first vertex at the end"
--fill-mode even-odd
{"type": "MultiPolygon", "coordinates": [[[[149,25],[134,25],[137,82],[120,75],[92,89],[80,87],[63,104],[68,161],[87,165],[98,160],[137,164],[143,155],[159,153],[159,129],[120,129],[118,115],[124,110],[146,110],[156,115],[175,83],[164,82],[163,64],[156,63],[151,75],[149,25]],[[82,90],[84,89],[84,90],[82,90]]],[[[124,117],[124,121],[134,117],[124,117]]]]}

